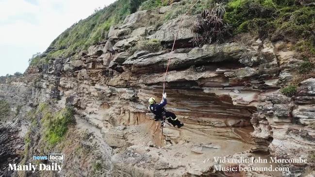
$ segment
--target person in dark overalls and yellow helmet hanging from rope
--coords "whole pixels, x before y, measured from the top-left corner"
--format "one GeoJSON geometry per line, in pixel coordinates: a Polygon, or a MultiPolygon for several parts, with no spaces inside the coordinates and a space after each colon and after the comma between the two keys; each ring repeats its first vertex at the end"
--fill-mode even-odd
{"type": "Polygon", "coordinates": [[[171,113],[169,111],[166,111],[164,109],[164,106],[166,105],[167,101],[166,101],[166,93],[163,94],[163,99],[161,101],[160,104],[156,104],[155,102],[155,98],[150,97],[149,99],[149,110],[155,114],[154,116],[154,120],[155,121],[159,121],[163,119],[163,114],[165,115],[166,120],[172,124],[174,127],[177,126],[178,128],[181,128],[182,126],[184,126],[183,123],[181,123],[181,121],[179,121],[176,118],[176,115],[174,113],[171,113]]]}

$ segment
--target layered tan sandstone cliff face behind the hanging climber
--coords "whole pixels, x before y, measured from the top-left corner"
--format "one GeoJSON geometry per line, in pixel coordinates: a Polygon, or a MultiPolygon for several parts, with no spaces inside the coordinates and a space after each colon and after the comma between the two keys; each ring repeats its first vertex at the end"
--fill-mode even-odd
{"type": "MultiPolygon", "coordinates": [[[[247,46],[234,40],[185,48],[194,36],[190,26],[196,16],[175,18],[150,34],[152,17],[159,16],[151,11],[127,16],[122,25],[111,27],[107,41],[91,46],[78,59],[55,59],[29,68],[18,80],[1,83],[0,98],[12,105],[19,102],[25,110],[52,99],[57,108],[74,107],[74,129],[93,134],[95,140],[85,139],[84,145],[98,150],[107,161],[104,173],[114,177],[223,176],[213,170],[212,159],[248,150],[307,159],[315,148],[315,130],[309,128],[315,119],[315,79],[302,81],[296,97],[279,93],[300,62],[295,51],[252,39],[247,46]],[[129,53],[128,48],[144,37],[157,38],[167,46],[181,19],[173,53],[169,49],[129,53]],[[166,109],[185,126],[177,129],[167,124],[161,141],[161,129],[147,106],[149,97],[161,97],[171,55],[166,109]]],[[[0,137],[7,136],[1,133],[0,137]]],[[[73,148],[65,151],[74,153],[73,148]]],[[[63,175],[79,175],[75,165],[66,164],[63,175]]],[[[92,168],[84,165],[80,168],[92,168]]],[[[279,165],[290,168],[290,173],[284,173],[287,176],[306,171],[306,165],[279,165]]]]}

